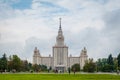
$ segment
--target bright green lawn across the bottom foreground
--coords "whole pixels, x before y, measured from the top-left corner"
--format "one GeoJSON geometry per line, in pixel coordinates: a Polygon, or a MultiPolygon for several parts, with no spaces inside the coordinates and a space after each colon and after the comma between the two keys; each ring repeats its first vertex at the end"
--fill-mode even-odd
{"type": "Polygon", "coordinates": [[[112,74],[0,74],[0,80],[120,80],[112,74]]]}

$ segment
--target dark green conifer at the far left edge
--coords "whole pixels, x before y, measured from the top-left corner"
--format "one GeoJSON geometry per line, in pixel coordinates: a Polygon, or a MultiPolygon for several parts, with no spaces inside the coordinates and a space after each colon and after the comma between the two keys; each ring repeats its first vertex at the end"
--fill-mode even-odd
{"type": "Polygon", "coordinates": [[[7,57],[5,53],[3,54],[3,57],[0,58],[0,70],[7,70],[7,57]]]}

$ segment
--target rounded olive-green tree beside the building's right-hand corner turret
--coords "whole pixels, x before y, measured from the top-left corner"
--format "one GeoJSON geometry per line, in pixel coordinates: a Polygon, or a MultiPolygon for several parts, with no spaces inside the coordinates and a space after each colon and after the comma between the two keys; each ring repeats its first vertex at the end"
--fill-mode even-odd
{"type": "Polygon", "coordinates": [[[93,62],[93,59],[89,59],[89,61],[86,61],[83,71],[85,72],[94,72],[96,70],[95,62],[93,62]]]}

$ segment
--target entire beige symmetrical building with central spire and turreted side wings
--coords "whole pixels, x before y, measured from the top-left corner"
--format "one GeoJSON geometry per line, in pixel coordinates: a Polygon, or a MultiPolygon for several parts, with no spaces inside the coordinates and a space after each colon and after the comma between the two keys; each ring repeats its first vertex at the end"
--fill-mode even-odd
{"type": "Polygon", "coordinates": [[[52,69],[66,71],[69,67],[76,63],[80,64],[80,68],[83,69],[85,61],[88,59],[87,50],[85,47],[81,51],[80,56],[68,56],[68,46],[64,44],[61,19],[58,35],[56,37],[56,44],[53,46],[52,54],[53,56],[49,55],[49,57],[43,57],[41,56],[37,47],[35,47],[33,54],[33,64],[44,64],[47,67],[52,67],[52,69]]]}

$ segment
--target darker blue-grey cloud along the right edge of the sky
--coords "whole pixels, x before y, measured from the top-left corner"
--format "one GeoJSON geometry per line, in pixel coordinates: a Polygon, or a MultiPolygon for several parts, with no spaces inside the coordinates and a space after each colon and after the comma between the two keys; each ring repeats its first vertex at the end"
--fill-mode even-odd
{"type": "Polygon", "coordinates": [[[104,36],[109,40],[109,48],[114,55],[120,52],[119,31],[120,31],[120,9],[113,10],[104,16],[106,27],[103,30],[104,36]]]}

